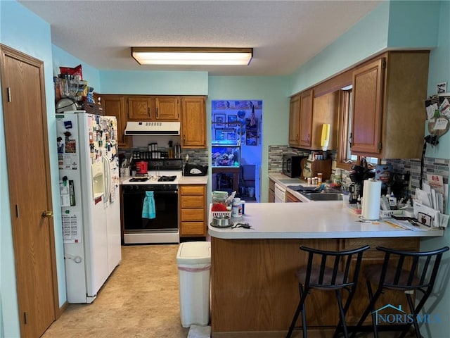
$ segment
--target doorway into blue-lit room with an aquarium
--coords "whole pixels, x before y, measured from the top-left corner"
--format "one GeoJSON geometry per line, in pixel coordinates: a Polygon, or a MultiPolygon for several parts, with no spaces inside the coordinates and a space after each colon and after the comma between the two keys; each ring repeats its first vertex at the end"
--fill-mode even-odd
{"type": "Polygon", "coordinates": [[[262,100],[211,102],[212,191],[260,201],[262,100]]]}

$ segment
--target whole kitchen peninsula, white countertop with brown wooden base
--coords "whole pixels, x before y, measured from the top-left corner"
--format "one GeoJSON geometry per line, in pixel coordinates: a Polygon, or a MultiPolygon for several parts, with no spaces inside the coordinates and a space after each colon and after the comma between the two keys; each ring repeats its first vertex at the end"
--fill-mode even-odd
{"type": "MultiPolygon", "coordinates": [[[[383,260],[375,250],[378,245],[418,251],[420,237],[444,234],[426,227],[405,230],[382,221],[363,223],[345,201],[246,204],[240,221],[252,228],[209,226],[212,337],[262,337],[262,332],[285,337],[298,303],[295,270],[307,258],[300,245],[343,250],[368,244],[364,267],[383,260]]],[[[389,293],[384,297],[381,302],[405,303],[389,293]]],[[[360,279],[347,313],[349,325],[356,324],[367,302],[360,279]]],[[[333,332],[339,318],[334,294],[314,290],[306,313],[311,334],[333,332]]]]}

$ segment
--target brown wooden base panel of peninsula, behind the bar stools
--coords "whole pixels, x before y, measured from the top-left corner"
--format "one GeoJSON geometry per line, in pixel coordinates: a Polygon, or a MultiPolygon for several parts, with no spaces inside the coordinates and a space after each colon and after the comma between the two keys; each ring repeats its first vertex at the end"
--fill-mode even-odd
{"type": "MultiPolygon", "coordinates": [[[[212,337],[263,337],[261,332],[268,331],[278,332],[279,337],[285,337],[299,301],[295,271],[307,263],[307,253],[300,251],[300,245],[337,251],[369,244],[371,249],[363,256],[365,266],[382,261],[383,255],[376,251],[376,246],[418,251],[419,239],[412,237],[401,238],[401,240],[390,238],[217,239],[212,237],[211,244],[212,337]],[[229,335],[230,332],[234,332],[234,335],[229,335]]],[[[345,299],[346,297],[345,293],[345,299]]],[[[352,308],[347,314],[349,325],[357,323],[367,303],[367,288],[361,277],[352,301],[352,308]]],[[[401,304],[402,307],[407,308],[403,294],[386,293],[385,298],[380,300],[380,306],[387,303],[396,304],[395,306],[401,304]]],[[[320,337],[331,337],[323,335],[323,332],[328,332],[327,330],[338,324],[339,314],[335,294],[312,290],[306,302],[306,314],[310,333],[316,331],[321,332],[320,337]]],[[[299,319],[298,325],[300,323],[299,319]]]]}

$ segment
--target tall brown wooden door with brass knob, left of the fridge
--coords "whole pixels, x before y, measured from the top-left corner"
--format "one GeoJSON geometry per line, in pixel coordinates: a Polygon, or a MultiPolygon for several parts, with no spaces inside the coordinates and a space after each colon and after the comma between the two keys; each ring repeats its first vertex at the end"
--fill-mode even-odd
{"type": "Polygon", "coordinates": [[[0,50],[20,335],[40,337],[59,315],[44,64],[0,50]]]}

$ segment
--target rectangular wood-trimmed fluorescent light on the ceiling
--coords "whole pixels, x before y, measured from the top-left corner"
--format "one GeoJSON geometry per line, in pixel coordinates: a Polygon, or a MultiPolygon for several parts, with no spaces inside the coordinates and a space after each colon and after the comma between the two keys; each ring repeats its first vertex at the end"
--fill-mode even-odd
{"type": "Polygon", "coordinates": [[[131,47],[141,65],[248,65],[252,48],[131,47]]]}

